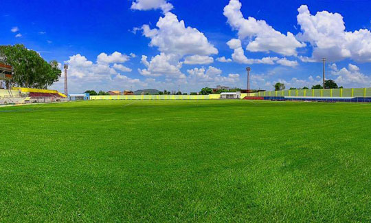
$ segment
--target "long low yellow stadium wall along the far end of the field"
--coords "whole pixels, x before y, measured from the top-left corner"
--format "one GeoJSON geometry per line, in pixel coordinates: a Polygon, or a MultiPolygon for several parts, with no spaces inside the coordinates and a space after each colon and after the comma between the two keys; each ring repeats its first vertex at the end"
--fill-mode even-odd
{"type": "Polygon", "coordinates": [[[220,94],[209,95],[107,95],[90,96],[90,100],[210,100],[219,99],[220,94]]]}

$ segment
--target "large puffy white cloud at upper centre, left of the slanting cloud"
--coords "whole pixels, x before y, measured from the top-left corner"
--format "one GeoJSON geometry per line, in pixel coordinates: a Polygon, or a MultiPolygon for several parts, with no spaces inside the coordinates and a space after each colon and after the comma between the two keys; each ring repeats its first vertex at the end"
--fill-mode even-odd
{"type": "Polygon", "coordinates": [[[186,27],[184,21],[179,21],[171,12],[160,17],[156,25],[158,29],[143,25],[142,30],[144,36],[151,39],[150,46],[158,47],[160,52],[179,56],[218,54],[202,32],[186,27]]]}

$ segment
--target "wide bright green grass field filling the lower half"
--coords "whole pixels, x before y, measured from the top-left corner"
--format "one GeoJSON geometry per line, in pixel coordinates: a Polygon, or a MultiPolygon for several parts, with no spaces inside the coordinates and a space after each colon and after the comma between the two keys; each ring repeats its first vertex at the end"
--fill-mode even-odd
{"type": "Polygon", "coordinates": [[[0,107],[0,222],[370,222],[371,104],[0,107]]]}

